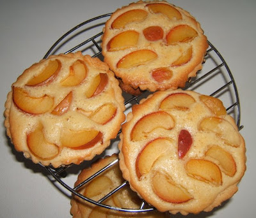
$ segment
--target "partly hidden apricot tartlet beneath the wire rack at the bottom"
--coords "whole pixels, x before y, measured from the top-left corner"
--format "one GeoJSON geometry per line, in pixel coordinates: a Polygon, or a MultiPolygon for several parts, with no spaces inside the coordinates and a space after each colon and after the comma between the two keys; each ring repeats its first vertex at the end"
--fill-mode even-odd
{"type": "MultiPolygon", "coordinates": [[[[97,171],[101,170],[109,163],[112,163],[118,158],[117,154],[112,156],[104,157],[104,159],[99,159],[99,161],[92,164],[90,168],[86,168],[79,173],[75,187],[87,178],[91,177],[97,171]]],[[[99,201],[110,191],[118,187],[124,182],[122,178],[122,172],[119,169],[118,163],[114,164],[108,170],[100,173],[97,177],[93,178],[88,184],[84,184],[78,189],[78,192],[90,198],[94,201],[99,201]]],[[[122,187],[116,193],[112,194],[109,198],[103,201],[103,204],[110,205],[116,208],[140,208],[141,199],[136,193],[131,191],[128,185],[122,187]]],[[[147,217],[147,218],[160,218],[168,217],[168,215],[154,211],[154,212],[120,212],[116,210],[106,209],[100,206],[93,205],[88,201],[79,198],[75,194],[72,195],[70,213],[73,218],[99,218],[99,217],[147,217]]]]}

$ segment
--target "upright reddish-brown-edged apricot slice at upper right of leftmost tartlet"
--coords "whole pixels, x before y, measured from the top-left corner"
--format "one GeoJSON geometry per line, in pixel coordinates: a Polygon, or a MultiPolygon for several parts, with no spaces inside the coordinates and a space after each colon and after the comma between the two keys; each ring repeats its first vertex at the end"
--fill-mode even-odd
{"type": "Polygon", "coordinates": [[[100,73],[99,75],[93,78],[92,83],[90,84],[90,89],[86,91],[86,97],[92,98],[103,92],[106,85],[108,84],[108,75],[106,73],[100,73]]]}

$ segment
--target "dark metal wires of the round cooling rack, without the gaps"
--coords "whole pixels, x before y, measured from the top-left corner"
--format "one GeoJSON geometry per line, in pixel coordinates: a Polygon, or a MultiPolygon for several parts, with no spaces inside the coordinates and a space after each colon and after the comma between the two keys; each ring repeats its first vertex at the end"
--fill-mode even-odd
{"type": "MultiPolygon", "coordinates": [[[[57,46],[60,45],[60,43],[65,40],[68,36],[70,36],[70,34],[74,33],[77,29],[80,29],[81,27],[83,27],[84,25],[90,24],[91,22],[95,21],[95,20],[100,20],[102,18],[105,17],[109,17],[111,15],[111,13],[108,13],[106,15],[101,15],[98,17],[94,17],[90,20],[87,20],[79,25],[76,25],[76,27],[70,29],[70,31],[68,31],[67,33],[65,33],[63,36],[61,36],[61,38],[59,40],[56,41],[56,43],[54,43],[54,45],[52,45],[52,47],[48,50],[48,52],[45,54],[44,58],[47,58],[49,55],[54,54],[54,48],[56,48],[57,46]]],[[[81,43],[78,43],[76,46],[69,48],[65,54],[69,53],[69,52],[74,52],[77,49],[80,49],[81,47],[83,47],[84,45],[86,45],[89,42],[92,42],[93,45],[95,45],[95,47],[97,48],[98,52],[95,52],[94,55],[92,55],[93,57],[97,57],[101,54],[101,48],[99,43],[97,43],[96,39],[102,35],[102,32],[100,31],[100,33],[97,33],[95,35],[93,35],[92,37],[82,41],[81,43]]],[[[76,37],[76,36],[75,36],[76,37]]],[[[237,87],[236,87],[236,83],[234,80],[234,77],[232,76],[232,73],[230,71],[230,69],[228,68],[227,62],[225,62],[225,60],[223,59],[223,57],[221,56],[220,52],[218,52],[218,50],[210,43],[209,43],[209,49],[207,50],[207,55],[209,55],[211,52],[214,52],[214,54],[216,54],[218,56],[218,58],[220,59],[221,63],[218,64],[217,66],[215,66],[214,68],[210,69],[209,71],[207,71],[206,73],[203,73],[200,76],[197,76],[196,79],[193,82],[190,82],[184,89],[191,89],[191,87],[194,87],[196,84],[198,84],[199,82],[203,82],[204,80],[211,80],[212,77],[214,77],[214,73],[216,73],[216,71],[221,71],[221,73],[223,74],[227,74],[230,78],[230,81],[226,82],[225,84],[223,84],[223,86],[219,87],[218,89],[216,89],[214,92],[212,92],[211,96],[215,96],[216,94],[220,93],[221,91],[225,90],[225,89],[230,89],[230,87],[232,88],[232,90],[235,93],[235,97],[236,97],[236,101],[234,103],[232,103],[232,105],[227,107],[227,111],[230,110],[236,110],[236,124],[238,129],[242,129],[243,126],[240,126],[240,102],[239,102],[239,95],[238,95],[238,91],[237,91],[237,87]],[[213,75],[213,76],[212,76],[213,75]]],[[[211,57],[210,57],[211,58],[211,57]]],[[[145,94],[145,92],[143,92],[143,94],[145,94]]],[[[126,99],[125,101],[125,105],[134,105],[134,104],[138,104],[139,103],[139,98],[143,98],[143,94],[141,94],[141,96],[130,96],[128,99],[126,99]]],[[[120,133],[120,132],[119,132],[120,133]]],[[[109,198],[109,196],[111,196],[111,194],[115,193],[116,191],[118,191],[119,189],[122,189],[122,187],[124,187],[125,185],[127,185],[127,181],[125,181],[123,184],[119,185],[118,187],[116,187],[113,191],[111,191],[110,193],[108,193],[106,196],[104,196],[101,200],[99,201],[94,201],[90,198],[86,198],[85,196],[83,196],[83,194],[80,194],[77,190],[79,189],[79,187],[83,186],[84,184],[86,184],[87,182],[89,182],[90,180],[92,180],[93,178],[97,177],[98,175],[100,175],[100,173],[103,173],[105,170],[107,170],[109,167],[113,166],[113,164],[118,163],[118,159],[116,159],[115,161],[113,161],[112,163],[108,164],[108,166],[105,166],[104,168],[102,168],[102,170],[98,171],[97,173],[95,173],[94,175],[92,175],[92,177],[86,179],[84,182],[82,182],[81,184],[77,185],[77,187],[70,187],[65,181],[64,178],[61,177],[63,176],[63,173],[66,172],[67,167],[61,167],[58,169],[54,169],[51,168],[49,166],[45,166],[46,170],[52,175],[52,177],[54,177],[56,179],[57,182],[59,182],[63,187],[65,187],[68,191],[70,191],[73,194],[76,194],[76,196],[79,196],[79,198],[82,198],[83,200],[86,200],[90,203],[93,203],[94,205],[100,206],[100,207],[104,207],[104,208],[108,208],[111,210],[118,210],[118,211],[122,211],[122,212],[147,212],[147,211],[151,211],[151,210],[155,210],[154,207],[152,206],[148,206],[145,201],[141,202],[141,207],[140,208],[118,208],[118,207],[112,207],[110,205],[106,205],[104,203],[102,203],[104,200],[106,200],[107,198],[109,198]],[[146,207],[146,208],[145,208],[146,207]]],[[[68,167],[72,167],[68,166],[68,167]]],[[[65,175],[64,175],[65,177],[65,175]]]]}

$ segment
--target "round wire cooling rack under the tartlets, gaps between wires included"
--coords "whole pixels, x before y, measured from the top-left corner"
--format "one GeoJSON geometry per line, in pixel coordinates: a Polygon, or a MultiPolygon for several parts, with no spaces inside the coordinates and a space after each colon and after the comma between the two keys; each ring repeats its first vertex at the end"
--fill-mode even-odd
{"type": "MultiPolygon", "coordinates": [[[[102,27],[106,20],[108,20],[111,13],[106,15],[101,15],[99,17],[94,17],[90,20],[87,20],[76,27],[70,29],[67,33],[63,34],[59,40],[52,45],[47,54],[45,54],[44,58],[49,57],[52,54],[68,54],[70,52],[76,52],[77,50],[81,51],[83,54],[89,54],[92,57],[99,57],[99,59],[103,59],[101,54],[101,36],[102,36],[102,27]]],[[[221,56],[220,52],[209,42],[209,48],[207,50],[207,54],[205,55],[204,67],[201,71],[198,72],[198,75],[195,78],[191,78],[191,80],[186,84],[184,89],[200,92],[207,94],[209,96],[214,96],[216,98],[221,99],[223,104],[227,110],[227,113],[234,117],[236,120],[236,124],[238,129],[242,129],[243,126],[240,124],[240,103],[239,103],[239,95],[237,92],[237,87],[235,80],[232,76],[230,69],[228,68],[227,63],[221,56]]],[[[129,94],[124,93],[125,98],[125,113],[128,113],[131,109],[132,105],[138,104],[141,99],[146,98],[150,94],[150,92],[143,92],[140,96],[131,96],[129,94]]],[[[110,147],[112,149],[106,152],[118,152],[117,145],[118,140],[112,143],[110,147]]],[[[112,153],[112,154],[113,154],[112,153]]],[[[106,154],[106,153],[105,153],[106,154]]],[[[96,157],[97,159],[97,157],[96,157]]],[[[91,164],[93,161],[89,162],[91,164]]],[[[102,168],[102,170],[98,171],[92,177],[86,179],[81,184],[74,187],[74,182],[72,184],[68,184],[68,173],[70,168],[79,168],[79,166],[75,164],[71,164],[70,166],[60,167],[60,168],[52,168],[51,166],[44,166],[47,171],[54,177],[54,179],[65,189],[70,191],[72,194],[76,194],[83,200],[86,200],[94,205],[98,205],[100,207],[109,208],[111,210],[119,210],[124,212],[146,212],[150,210],[154,210],[153,207],[147,205],[144,201],[141,200],[140,208],[118,208],[112,207],[110,205],[106,205],[102,203],[109,196],[111,196],[116,191],[122,189],[125,185],[128,185],[128,182],[125,181],[123,184],[116,187],[109,194],[104,196],[99,201],[94,201],[90,198],[86,198],[83,194],[80,194],[77,190],[82,187],[84,184],[87,184],[93,178],[100,175],[104,171],[108,170],[114,164],[118,164],[118,159],[113,161],[102,168]]],[[[78,171],[78,170],[77,170],[78,171]]],[[[77,176],[76,176],[77,178],[77,176]]],[[[76,181],[76,180],[75,180],[76,181]]]]}

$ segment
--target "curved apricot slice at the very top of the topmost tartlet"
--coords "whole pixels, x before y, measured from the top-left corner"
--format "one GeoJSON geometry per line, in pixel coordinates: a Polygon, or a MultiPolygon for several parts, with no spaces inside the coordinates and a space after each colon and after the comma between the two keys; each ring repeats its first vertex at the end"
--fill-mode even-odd
{"type": "Polygon", "coordinates": [[[163,13],[171,20],[172,19],[180,20],[182,18],[180,12],[176,8],[173,8],[173,6],[170,6],[168,4],[153,3],[153,4],[147,4],[147,6],[152,12],[163,13]]]}

